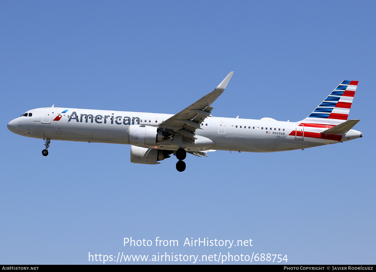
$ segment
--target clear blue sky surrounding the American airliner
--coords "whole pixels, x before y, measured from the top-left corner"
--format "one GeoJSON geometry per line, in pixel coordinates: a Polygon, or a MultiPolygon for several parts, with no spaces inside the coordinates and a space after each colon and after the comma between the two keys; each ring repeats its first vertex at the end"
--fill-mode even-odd
{"type": "Polygon", "coordinates": [[[88,252],[254,252],[287,254],[287,264],[374,264],[375,8],[1,2],[0,263],[101,263],[89,262],[88,252]],[[53,104],[175,114],[230,71],[214,116],[299,121],[341,81],[359,81],[349,119],[361,119],[355,129],[363,138],[304,151],[188,154],[179,173],[176,158],[130,163],[125,145],[52,141],[43,157],[42,140],[6,128],[53,104]],[[179,246],[123,246],[124,237],[179,246]],[[187,237],[253,246],[183,246],[187,237]]]}

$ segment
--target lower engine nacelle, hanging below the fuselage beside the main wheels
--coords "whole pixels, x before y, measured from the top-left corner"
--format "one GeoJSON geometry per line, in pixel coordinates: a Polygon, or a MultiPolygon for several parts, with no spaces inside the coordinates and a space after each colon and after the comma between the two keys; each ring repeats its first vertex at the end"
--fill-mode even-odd
{"type": "Polygon", "coordinates": [[[130,146],[130,162],[141,164],[160,164],[158,161],[170,158],[173,151],[159,150],[155,148],[146,148],[139,146],[130,146]]]}

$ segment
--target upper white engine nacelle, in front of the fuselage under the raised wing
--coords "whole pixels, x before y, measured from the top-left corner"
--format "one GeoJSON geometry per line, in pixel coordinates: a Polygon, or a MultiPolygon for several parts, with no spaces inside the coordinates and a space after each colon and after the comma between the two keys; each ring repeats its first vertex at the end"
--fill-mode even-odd
{"type": "Polygon", "coordinates": [[[130,125],[128,129],[129,144],[153,145],[168,138],[155,126],[130,125]]]}

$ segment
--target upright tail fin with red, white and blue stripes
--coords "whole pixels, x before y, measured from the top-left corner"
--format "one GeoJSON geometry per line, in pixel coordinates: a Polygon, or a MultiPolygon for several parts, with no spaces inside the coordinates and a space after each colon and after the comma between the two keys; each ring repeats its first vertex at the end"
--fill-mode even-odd
{"type": "Polygon", "coordinates": [[[358,81],[344,80],[300,123],[338,125],[347,120],[358,81]]]}

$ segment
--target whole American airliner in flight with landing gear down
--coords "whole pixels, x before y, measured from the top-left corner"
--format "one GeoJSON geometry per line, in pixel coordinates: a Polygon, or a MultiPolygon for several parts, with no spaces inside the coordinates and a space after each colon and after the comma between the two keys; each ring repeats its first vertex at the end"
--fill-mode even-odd
{"type": "Polygon", "coordinates": [[[171,154],[183,172],[186,153],[208,157],[208,152],[277,152],[334,144],[362,137],[353,130],[360,120],[347,117],[358,81],[345,80],[299,122],[273,118],[213,117],[212,103],[223,93],[233,72],[211,93],[177,114],[98,109],[31,109],[8,123],[25,137],[43,139],[48,155],[51,140],[130,144],[130,161],[160,164],[171,154]]]}

